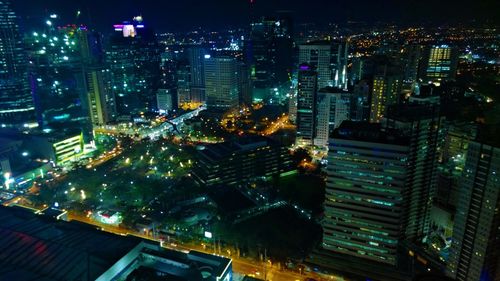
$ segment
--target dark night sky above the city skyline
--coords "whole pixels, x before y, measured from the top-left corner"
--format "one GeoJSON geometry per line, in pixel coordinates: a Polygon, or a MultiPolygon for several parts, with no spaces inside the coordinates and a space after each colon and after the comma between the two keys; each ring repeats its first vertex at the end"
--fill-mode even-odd
{"type": "MultiPolygon", "coordinates": [[[[82,20],[107,29],[113,23],[143,17],[159,31],[187,30],[197,26],[223,28],[248,22],[250,0],[11,0],[27,26],[44,22],[55,12],[74,22],[82,20]]],[[[254,14],[292,10],[297,22],[395,21],[398,23],[500,21],[500,0],[254,0],[254,14]]],[[[104,31],[104,30],[102,30],[104,31]]]]}

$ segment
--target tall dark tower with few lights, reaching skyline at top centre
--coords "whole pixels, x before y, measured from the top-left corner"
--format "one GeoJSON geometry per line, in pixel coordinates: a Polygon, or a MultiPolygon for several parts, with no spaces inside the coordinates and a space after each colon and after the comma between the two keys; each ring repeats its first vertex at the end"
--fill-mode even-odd
{"type": "Polygon", "coordinates": [[[246,52],[256,88],[274,88],[289,81],[293,67],[292,34],[293,22],[286,12],[252,22],[246,52]]]}

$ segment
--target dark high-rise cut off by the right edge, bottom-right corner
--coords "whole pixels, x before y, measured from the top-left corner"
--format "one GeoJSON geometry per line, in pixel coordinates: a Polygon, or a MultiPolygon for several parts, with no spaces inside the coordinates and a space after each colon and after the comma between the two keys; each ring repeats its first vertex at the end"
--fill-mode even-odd
{"type": "Polygon", "coordinates": [[[460,199],[448,262],[448,273],[457,281],[500,278],[499,193],[498,132],[480,132],[478,139],[469,144],[460,180],[460,199]]]}

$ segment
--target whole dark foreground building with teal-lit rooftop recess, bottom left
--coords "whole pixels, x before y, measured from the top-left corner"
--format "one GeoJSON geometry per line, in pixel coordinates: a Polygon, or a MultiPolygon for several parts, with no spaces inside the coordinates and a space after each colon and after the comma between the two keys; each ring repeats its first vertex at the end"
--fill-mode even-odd
{"type": "Polygon", "coordinates": [[[0,207],[0,280],[231,281],[230,259],[0,207]]]}

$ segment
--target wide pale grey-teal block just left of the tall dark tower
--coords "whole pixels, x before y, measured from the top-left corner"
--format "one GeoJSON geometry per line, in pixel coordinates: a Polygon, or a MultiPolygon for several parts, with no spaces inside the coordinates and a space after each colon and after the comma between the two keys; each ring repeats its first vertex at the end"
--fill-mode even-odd
{"type": "Polygon", "coordinates": [[[238,62],[233,57],[205,59],[205,87],[209,109],[238,106],[238,62]]]}

